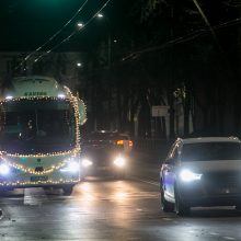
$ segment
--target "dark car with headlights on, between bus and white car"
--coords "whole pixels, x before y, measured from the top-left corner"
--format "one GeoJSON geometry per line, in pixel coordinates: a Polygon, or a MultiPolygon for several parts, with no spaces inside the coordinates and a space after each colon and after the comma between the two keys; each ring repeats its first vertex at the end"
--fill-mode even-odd
{"type": "Polygon", "coordinates": [[[82,144],[82,176],[111,174],[123,179],[128,168],[133,141],[117,131],[93,131],[82,144]]]}

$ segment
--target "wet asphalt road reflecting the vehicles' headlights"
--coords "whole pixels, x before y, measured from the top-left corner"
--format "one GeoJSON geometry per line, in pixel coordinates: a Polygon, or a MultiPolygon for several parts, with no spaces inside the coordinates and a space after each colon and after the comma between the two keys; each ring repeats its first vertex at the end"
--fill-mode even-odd
{"type": "Polygon", "coordinates": [[[196,208],[185,218],[162,213],[158,162],[147,160],[135,160],[127,180],[92,177],[71,196],[10,193],[0,199],[0,240],[241,240],[241,214],[232,207],[196,208]]]}

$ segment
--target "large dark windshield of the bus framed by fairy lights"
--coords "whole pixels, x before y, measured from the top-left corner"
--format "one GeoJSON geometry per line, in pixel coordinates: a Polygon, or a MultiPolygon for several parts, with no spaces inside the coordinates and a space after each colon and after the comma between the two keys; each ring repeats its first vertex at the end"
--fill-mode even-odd
{"type": "Polygon", "coordinates": [[[20,100],[0,105],[0,150],[34,154],[76,145],[74,111],[68,100],[20,100]]]}

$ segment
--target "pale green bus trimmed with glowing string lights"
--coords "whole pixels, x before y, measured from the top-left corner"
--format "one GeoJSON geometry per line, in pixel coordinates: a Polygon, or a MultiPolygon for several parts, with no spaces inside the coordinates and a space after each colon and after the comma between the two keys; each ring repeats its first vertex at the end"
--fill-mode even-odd
{"type": "Polygon", "coordinates": [[[13,78],[0,94],[0,192],[62,188],[81,181],[79,96],[43,76],[13,78]]]}

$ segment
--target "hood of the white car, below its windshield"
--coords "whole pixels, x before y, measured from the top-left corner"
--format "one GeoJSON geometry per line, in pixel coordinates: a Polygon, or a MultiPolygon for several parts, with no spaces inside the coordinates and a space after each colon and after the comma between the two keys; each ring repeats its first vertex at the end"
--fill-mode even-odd
{"type": "Polygon", "coordinates": [[[241,160],[182,162],[181,169],[183,168],[195,172],[241,172],[241,160]]]}

